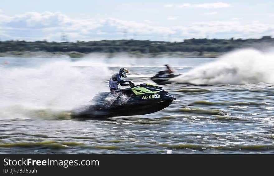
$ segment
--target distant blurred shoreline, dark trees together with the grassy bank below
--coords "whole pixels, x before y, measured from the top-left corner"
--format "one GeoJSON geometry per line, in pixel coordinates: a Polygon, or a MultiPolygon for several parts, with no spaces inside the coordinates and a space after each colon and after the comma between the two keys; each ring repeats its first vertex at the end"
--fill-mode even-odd
{"type": "Polygon", "coordinates": [[[0,41],[0,57],[85,58],[217,58],[224,53],[253,48],[274,47],[274,38],[261,39],[186,39],[182,42],[150,40],[100,40],[76,42],[0,41]]]}

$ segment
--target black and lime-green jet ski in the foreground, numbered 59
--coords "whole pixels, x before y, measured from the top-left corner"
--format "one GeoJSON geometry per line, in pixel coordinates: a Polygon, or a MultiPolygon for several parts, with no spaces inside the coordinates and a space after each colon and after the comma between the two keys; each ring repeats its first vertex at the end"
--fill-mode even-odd
{"type": "Polygon", "coordinates": [[[93,104],[78,109],[73,117],[117,117],[150,114],[168,107],[176,98],[162,87],[130,83],[122,92],[101,92],[90,102],[93,104]]]}

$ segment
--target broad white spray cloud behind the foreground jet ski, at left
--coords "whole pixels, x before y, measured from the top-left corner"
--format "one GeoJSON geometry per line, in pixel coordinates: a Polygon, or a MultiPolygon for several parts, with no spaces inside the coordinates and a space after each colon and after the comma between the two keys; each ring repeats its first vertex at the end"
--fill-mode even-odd
{"type": "Polygon", "coordinates": [[[105,64],[75,67],[73,63],[77,62],[59,60],[35,68],[0,67],[0,117],[19,118],[20,112],[37,109],[71,110],[97,92],[108,91],[110,72],[105,64]]]}

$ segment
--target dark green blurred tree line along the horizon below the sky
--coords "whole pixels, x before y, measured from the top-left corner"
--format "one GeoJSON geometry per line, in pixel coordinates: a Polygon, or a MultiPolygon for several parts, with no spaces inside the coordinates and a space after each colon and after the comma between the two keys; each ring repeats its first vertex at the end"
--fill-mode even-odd
{"type": "Polygon", "coordinates": [[[260,39],[187,39],[182,42],[150,40],[100,40],[76,42],[48,42],[7,40],[0,41],[0,52],[8,51],[44,51],[44,52],[227,52],[234,49],[252,46],[263,49],[265,45],[273,46],[274,38],[263,36],[260,39]]]}

